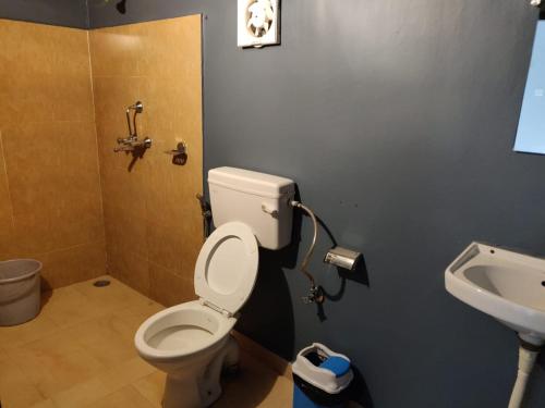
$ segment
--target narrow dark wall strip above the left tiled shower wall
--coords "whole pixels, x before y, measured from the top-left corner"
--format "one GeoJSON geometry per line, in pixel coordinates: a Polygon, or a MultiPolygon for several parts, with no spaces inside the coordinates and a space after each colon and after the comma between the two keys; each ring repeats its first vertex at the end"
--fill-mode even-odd
{"type": "MultiPolygon", "coordinates": [[[[96,8],[107,0],[90,1],[96,8]]],[[[87,0],[0,0],[0,18],[76,28],[87,28],[89,24],[87,0]]]]}

